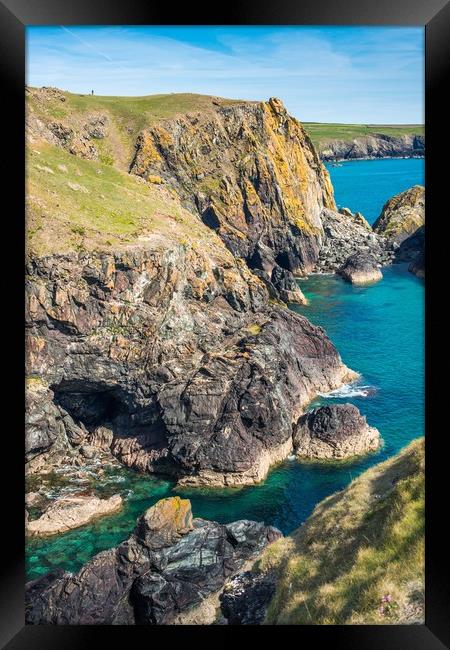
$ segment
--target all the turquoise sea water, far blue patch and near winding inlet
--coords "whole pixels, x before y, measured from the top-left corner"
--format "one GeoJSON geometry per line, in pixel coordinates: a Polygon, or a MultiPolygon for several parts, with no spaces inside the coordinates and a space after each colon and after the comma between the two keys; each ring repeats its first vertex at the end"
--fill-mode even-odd
{"type": "MultiPolygon", "coordinates": [[[[336,200],[352,210],[359,209],[365,216],[377,216],[387,198],[415,183],[423,183],[422,163],[420,160],[356,161],[332,168],[336,200]],[[390,169],[395,173],[390,174],[390,169]],[[372,181],[371,170],[374,170],[372,181]],[[384,180],[377,190],[379,178],[384,180]],[[349,200],[351,186],[354,200],[349,200]],[[361,205],[363,198],[366,208],[361,205]]],[[[175,494],[191,499],[197,517],[220,522],[255,519],[289,533],[309,516],[321,499],[422,435],[424,283],[404,266],[386,268],[383,276],[381,282],[370,287],[353,287],[334,276],[311,276],[300,283],[310,304],[293,307],[323,326],[344,362],[362,375],[356,385],[318,401],[355,404],[368,422],[380,430],[384,446],[379,452],[342,464],[301,464],[287,460],[261,485],[227,490],[180,490],[167,481],[126,469],[115,470],[101,479],[98,491],[105,496],[120,492],[126,499],[123,511],[64,535],[30,541],[28,579],[55,566],[78,570],[95,553],[125,539],[146,508],[162,497],[175,494]]]]}

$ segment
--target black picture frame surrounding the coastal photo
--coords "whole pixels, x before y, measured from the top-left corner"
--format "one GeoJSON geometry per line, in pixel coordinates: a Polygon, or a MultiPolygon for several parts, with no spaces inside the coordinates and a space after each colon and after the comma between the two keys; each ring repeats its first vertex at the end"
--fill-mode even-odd
{"type": "MultiPolygon", "coordinates": [[[[416,626],[302,626],[294,634],[300,645],[332,644],[333,649],[349,650],[439,650],[450,647],[448,535],[444,497],[446,482],[446,423],[432,426],[435,406],[445,404],[445,385],[438,383],[431,389],[435,375],[432,341],[445,337],[442,318],[434,318],[433,296],[438,295],[433,270],[439,260],[445,259],[445,240],[439,235],[440,206],[448,206],[446,166],[441,164],[445,135],[448,132],[444,101],[446,72],[450,60],[450,9],[445,0],[303,0],[295,3],[277,0],[262,6],[257,0],[239,5],[222,4],[214,9],[202,5],[184,7],[162,6],[149,0],[0,0],[0,71],[2,77],[2,186],[3,202],[2,261],[3,296],[7,300],[2,326],[2,341],[13,352],[13,362],[5,362],[7,399],[4,418],[11,415],[11,423],[4,424],[2,446],[2,478],[4,479],[4,515],[2,541],[6,542],[1,556],[0,572],[0,643],[10,650],[19,648],[99,647],[112,640],[117,644],[143,647],[161,641],[184,645],[201,641],[204,637],[215,644],[229,645],[242,637],[255,643],[262,636],[276,633],[282,641],[285,628],[235,628],[209,626],[178,628],[167,626],[151,631],[141,627],[85,627],[85,626],[25,626],[24,624],[24,480],[23,440],[23,278],[24,259],[24,83],[25,83],[25,26],[53,24],[303,24],[303,25],[416,25],[425,27],[426,40],[426,147],[425,183],[427,192],[427,271],[426,271],[426,622],[416,626]],[[434,222],[434,225],[433,225],[434,222]],[[439,229],[439,230],[438,230],[439,229]],[[8,257],[8,262],[5,261],[8,257]],[[7,317],[5,316],[7,314],[7,317]],[[14,343],[13,335],[16,335],[14,343]],[[14,343],[14,346],[13,346],[14,343]],[[12,396],[16,398],[13,407],[12,396]],[[10,399],[11,397],[11,399],[10,399]],[[6,466],[9,477],[5,478],[6,466]],[[151,636],[149,636],[151,634],[151,636]],[[157,635],[157,636],[155,636],[157,635]],[[256,636],[255,636],[256,635],[256,636]]],[[[448,86],[448,83],[447,83],[448,86]]],[[[445,146],[445,145],[444,145],[445,146]]],[[[445,217],[448,214],[446,209],[445,217]]],[[[446,301],[445,301],[446,302],[446,301]]],[[[445,306],[445,305],[444,305],[445,306]]],[[[437,312],[436,312],[437,314],[437,312]]],[[[445,319],[444,319],[445,321],[445,319]]],[[[444,339],[445,340],[445,339],[444,339]]],[[[436,345],[436,347],[437,347],[436,345]]],[[[438,354],[442,353],[442,349],[438,354]]],[[[440,357],[436,359],[441,361],[440,357]]],[[[442,361],[441,361],[442,363],[442,361]]],[[[439,367],[436,363],[436,367],[439,367]]],[[[445,417],[445,416],[444,416],[445,417]]],[[[436,420],[438,420],[436,418],[436,420]]],[[[202,646],[200,646],[202,647],[202,646]]]]}

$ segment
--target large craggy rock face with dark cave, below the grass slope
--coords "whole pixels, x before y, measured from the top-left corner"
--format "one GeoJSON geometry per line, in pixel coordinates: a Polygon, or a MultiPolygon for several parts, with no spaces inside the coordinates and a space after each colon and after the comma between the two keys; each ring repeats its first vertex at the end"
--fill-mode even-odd
{"type": "Polygon", "coordinates": [[[27,277],[31,470],[88,445],[186,483],[253,483],[317,392],[355,376],[226,249],[156,237],[34,258],[27,277]]]}

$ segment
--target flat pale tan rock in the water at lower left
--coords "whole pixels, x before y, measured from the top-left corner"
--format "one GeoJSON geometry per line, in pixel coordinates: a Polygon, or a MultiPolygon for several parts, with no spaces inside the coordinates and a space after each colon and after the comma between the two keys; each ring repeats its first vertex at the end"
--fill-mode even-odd
{"type": "Polygon", "coordinates": [[[28,520],[26,534],[30,536],[55,535],[79,528],[122,508],[122,497],[109,499],[96,496],[63,497],[54,501],[38,519],[28,520]]]}

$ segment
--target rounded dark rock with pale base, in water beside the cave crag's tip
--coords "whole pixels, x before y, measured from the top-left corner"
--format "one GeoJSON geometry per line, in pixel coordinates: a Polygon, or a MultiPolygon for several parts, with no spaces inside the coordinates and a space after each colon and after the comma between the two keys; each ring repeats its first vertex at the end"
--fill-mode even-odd
{"type": "Polygon", "coordinates": [[[303,415],[294,431],[294,449],[301,458],[349,458],[380,446],[378,429],[369,427],[353,404],[321,406],[303,415]]]}

